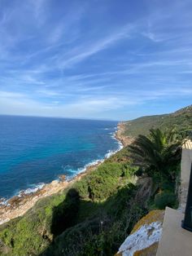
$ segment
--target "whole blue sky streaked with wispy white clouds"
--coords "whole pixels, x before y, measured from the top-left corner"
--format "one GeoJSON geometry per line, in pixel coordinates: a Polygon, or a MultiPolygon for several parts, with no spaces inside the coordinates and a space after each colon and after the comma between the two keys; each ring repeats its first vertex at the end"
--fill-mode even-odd
{"type": "Polygon", "coordinates": [[[0,7],[0,114],[128,120],[191,104],[190,0],[0,7]]]}

